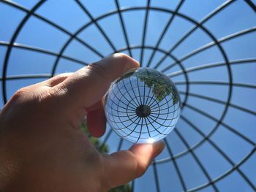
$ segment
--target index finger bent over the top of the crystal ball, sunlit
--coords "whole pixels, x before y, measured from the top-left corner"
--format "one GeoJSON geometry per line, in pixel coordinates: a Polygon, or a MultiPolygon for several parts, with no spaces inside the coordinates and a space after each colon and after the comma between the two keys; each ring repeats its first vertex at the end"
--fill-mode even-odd
{"type": "Polygon", "coordinates": [[[90,107],[108,91],[110,83],[129,69],[138,67],[138,61],[123,53],[116,53],[83,67],[56,86],[64,91],[72,106],[90,107]]]}

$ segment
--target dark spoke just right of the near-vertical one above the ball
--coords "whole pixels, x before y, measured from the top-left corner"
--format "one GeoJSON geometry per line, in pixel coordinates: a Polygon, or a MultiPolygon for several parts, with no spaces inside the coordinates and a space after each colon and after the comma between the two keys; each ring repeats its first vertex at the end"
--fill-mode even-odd
{"type": "Polygon", "coordinates": [[[156,51],[157,51],[157,49],[158,49],[160,43],[162,42],[162,39],[164,39],[165,34],[166,34],[168,28],[170,28],[171,23],[173,23],[173,20],[174,20],[174,18],[175,18],[175,16],[176,16],[176,13],[178,12],[178,9],[181,8],[181,5],[182,5],[183,3],[184,3],[184,0],[181,0],[181,1],[179,2],[179,4],[178,4],[178,6],[176,7],[175,11],[174,11],[173,14],[170,16],[170,19],[169,19],[168,22],[166,23],[164,30],[163,30],[162,33],[159,35],[159,38],[158,38],[158,40],[157,40],[157,45],[154,46],[155,48],[154,48],[153,52],[152,52],[151,55],[150,55],[150,58],[149,58],[149,60],[148,60],[148,64],[146,65],[146,67],[149,67],[149,66],[151,65],[151,62],[152,62],[152,60],[153,60],[153,58],[154,58],[154,55],[155,55],[155,53],[156,53],[156,51]]]}

